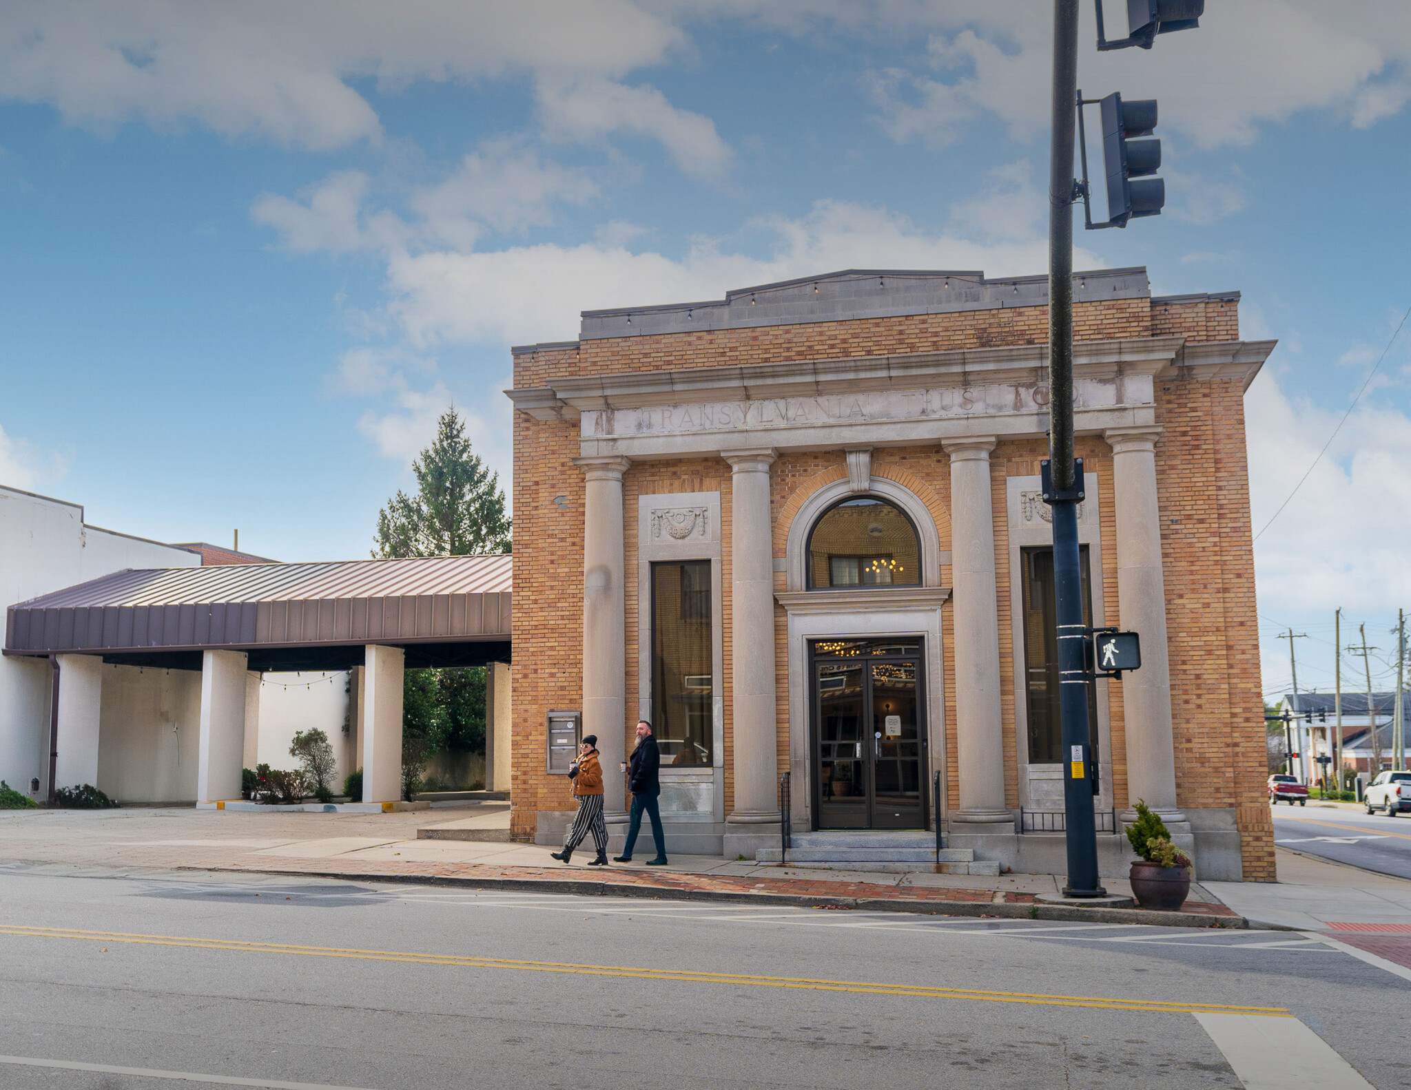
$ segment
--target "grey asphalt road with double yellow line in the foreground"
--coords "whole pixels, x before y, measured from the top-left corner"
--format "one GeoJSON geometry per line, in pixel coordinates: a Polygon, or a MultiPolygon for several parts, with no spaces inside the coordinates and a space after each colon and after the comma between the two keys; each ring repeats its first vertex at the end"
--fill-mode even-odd
{"type": "Polygon", "coordinates": [[[0,988],[16,1090],[1411,1087],[1411,981],[1292,932],[6,867],[0,988]]]}

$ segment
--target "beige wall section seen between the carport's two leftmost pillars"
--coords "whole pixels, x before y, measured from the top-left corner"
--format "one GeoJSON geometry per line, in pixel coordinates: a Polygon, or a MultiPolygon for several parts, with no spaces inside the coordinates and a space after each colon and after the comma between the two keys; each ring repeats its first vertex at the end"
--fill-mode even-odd
{"type": "Polygon", "coordinates": [[[103,667],[97,787],[120,802],[193,802],[200,671],[103,667]]]}

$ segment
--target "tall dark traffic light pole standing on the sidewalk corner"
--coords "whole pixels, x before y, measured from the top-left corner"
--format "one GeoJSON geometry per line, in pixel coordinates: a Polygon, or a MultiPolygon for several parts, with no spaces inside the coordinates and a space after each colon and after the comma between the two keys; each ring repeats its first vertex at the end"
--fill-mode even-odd
{"type": "Polygon", "coordinates": [[[1088,629],[1082,616],[1078,503],[1082,468],[1072,457],[1072,202],[1074,106],[1078,100],[1078,0],[1054,0],[1053,144],[1048,164],[1048,478],[1058,620],[1058,706],[1062,719],[1065,897],[1102,897],[1092,809],[1088,733],[1088,629]]]}

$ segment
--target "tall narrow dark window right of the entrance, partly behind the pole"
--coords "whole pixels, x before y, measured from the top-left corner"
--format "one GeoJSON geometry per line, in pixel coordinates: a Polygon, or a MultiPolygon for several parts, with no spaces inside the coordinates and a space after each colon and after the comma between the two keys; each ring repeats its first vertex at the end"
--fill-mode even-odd
{"type": "MultiPolygon", "coordinates": [[[[1082,623],[1092,625],[1092,591],[1088,580],[1088,546],[1079,546],[1082,572],[1082,623]]],[[[1024,549],[1024,675],[1029,708],[1029,761],[1062,761],[1062,718],[1058,712],[1058,598],[1054,589],[1051,546],[1024,549]]],[[[1098,753],[1098,692],[1088,684],[1088,736],[1098,753]]]]}

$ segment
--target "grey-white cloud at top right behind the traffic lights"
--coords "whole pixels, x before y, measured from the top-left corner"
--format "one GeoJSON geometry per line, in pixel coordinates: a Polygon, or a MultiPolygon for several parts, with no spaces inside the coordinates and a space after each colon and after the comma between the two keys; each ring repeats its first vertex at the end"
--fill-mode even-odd
{"type": "MultiPolygon", "coordinates": [[[[1120,6],[1116,6],[1120,8],[1120,6]]],[[[976,118],[998,117],[1024,140],[1048,124],[1051,38],[1044,4],[931,7],[928,63],[873,78],[880,123],[896,140],[944,144],[976,118]]],[[[1201,147],[1249,144],[1259,125],[1329,109],[1366,127],[1411,100],[1411,6],[1325,0],[1222,0],[1199,30],[1156,48],[1098,54],[1085,10],[1079,85],[1161,103],[1163,131],[1201,147]]]]}

